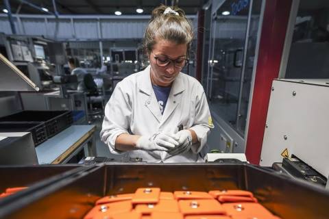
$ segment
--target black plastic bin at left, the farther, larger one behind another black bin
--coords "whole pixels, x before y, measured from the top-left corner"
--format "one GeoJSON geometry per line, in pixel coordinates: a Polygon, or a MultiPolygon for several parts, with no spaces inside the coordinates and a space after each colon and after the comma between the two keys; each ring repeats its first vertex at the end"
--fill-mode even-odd
{"type": "Polygon", "coordinates": [[[73,123],[71,111],[22,111],[0,118],[0,122],[44,122],[47,138],[55,136],[73,123]]]}

